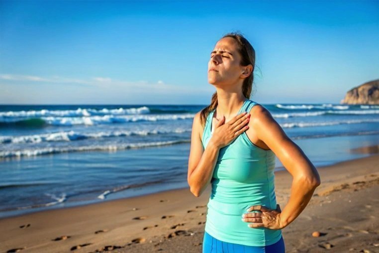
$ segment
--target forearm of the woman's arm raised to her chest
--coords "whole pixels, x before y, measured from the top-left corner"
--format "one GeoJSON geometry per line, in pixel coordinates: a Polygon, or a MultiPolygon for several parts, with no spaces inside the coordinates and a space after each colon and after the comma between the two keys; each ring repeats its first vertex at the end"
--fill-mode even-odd
{"type": "Polygon", "coordinates": [[[217,162],[219,147],[209,141],[201,156],[197,167],[189,176],[190,191],[196,196],[200,196],[205,190],[213,175],[213,170],[217,162]]]}

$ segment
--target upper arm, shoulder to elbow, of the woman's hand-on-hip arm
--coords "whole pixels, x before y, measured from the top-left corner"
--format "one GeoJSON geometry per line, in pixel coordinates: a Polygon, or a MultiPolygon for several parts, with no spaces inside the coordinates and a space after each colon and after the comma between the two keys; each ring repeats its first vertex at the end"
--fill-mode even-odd
{"type": "Polygon", "coordinates": [[[257,137],[273,150],[293,177],[307,177],[320,181],[316,168],[300,147],[285,134],[266,108],[261,105],[254,106],[251,115],[249,127],[254,128],[257,137]]]}

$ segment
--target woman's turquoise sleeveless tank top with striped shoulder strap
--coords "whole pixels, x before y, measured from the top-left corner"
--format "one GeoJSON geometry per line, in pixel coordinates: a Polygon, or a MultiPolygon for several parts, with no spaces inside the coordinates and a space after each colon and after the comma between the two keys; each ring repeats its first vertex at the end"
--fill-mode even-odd
{"type": "MultiPolygon", "coordinates": [[[[247,99],[237,114],[249,113],[255,105],[258,103],[247,99]]],[[[212,135],[214,111],[206,119],[202,135],[204,149],[212,135]]],[[[220,148],[207,204],[205,231],[209,235],[223,242],[246,246],[267,246],[281,239],[282,230],[250,228],[248,222],[241,220],[250,206],[277,208],[275,157],[272,150],[265,150],[251,142],[245,131],[229,145],[220,148]]]]}

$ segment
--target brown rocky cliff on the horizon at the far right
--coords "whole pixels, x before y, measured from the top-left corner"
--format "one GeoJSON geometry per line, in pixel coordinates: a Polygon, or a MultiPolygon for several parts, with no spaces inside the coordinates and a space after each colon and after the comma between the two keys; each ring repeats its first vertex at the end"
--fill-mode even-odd
{"type": "Polygon", "coordinates": [[[354,87],[340,103],[379,105],[379,79],[354,87]]]}

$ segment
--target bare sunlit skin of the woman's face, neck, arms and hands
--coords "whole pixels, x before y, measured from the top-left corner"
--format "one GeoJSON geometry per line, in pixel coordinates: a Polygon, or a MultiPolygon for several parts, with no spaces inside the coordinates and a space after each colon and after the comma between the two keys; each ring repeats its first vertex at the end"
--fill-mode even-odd
{"type": "Polygon", "coordinates": [[[232,137],[235,138],[246,131],[254,144],[266,150],[271,149],[275,153],[293,180],[290,197],[283,211],[279,205],[276,210],[255,205],[251,206],[241,219],[251,228],[283,229],[309,203],[314,190],[320,185],[320,177],[307,156],[284,133],[266,108],[256,105],[248,114],[236,116],[246,100],[242,94],[243,80],[252,74],[253,70],[252,65],[239,64],[241,56],[237,49],[236,41],[226,37],[220,39],[211,51],[208,82],[216,88],[218,100],[211,125],[214,132],[204,149],[201,142],[203,127],[198,112],[192,124],[188,183],[191,192],[196,197],[200,196],[210,183],[219,149],[229,143],[232,137]],[[250,213],[253,210],[260,212],[250,213]]]}

